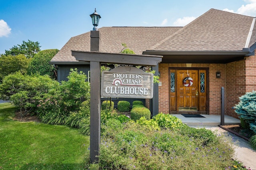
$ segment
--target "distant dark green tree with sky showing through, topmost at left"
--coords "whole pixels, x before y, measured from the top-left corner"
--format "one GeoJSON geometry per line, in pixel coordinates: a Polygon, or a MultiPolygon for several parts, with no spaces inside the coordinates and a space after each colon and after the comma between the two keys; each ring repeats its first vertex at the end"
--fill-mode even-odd
{"type": "Polygon", "coordinates": [[[40,45],[38,41],[33,42],[28,39],[28,42],[22,41],[21,45],[14,45],[10,50],[5,50],[6,56],[12,55],[16,56],[19,54],[24,54],[28,59],[34,57],[36,53],[38,53],[40,49],[40,45]]]}

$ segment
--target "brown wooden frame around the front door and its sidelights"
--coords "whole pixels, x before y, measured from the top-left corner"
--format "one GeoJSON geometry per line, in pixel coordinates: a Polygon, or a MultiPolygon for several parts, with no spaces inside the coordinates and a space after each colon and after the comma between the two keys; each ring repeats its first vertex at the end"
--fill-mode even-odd
{"type": "MultiPolygon", "coordinates": [[[[199,76],[199,73],[198,73],[198,76],[199,76]]],[[[198,79],[200,80],[200,78],[198,79]]],[[[209,114],[209,87],[210,87],[210,83],[209,83],[209,68],[208,67],[169,67],[168,68],[168,98],[169,98],[169,114],[209,114]],[[176,75],[175,75],[175,88],[177,88],[177,70],[205,70],[206,71],[206,78],[205,78],[205,81],[206,81],[206,111],[177,111],[177,90],[175,90],[176,92],[176,101],[175,101],[175,104],[176,104],[176,111],[171,111],[170,110],[170,88],[171,88],[171,85],[170,85],[170,70],[176,70],[176,75]]]]}

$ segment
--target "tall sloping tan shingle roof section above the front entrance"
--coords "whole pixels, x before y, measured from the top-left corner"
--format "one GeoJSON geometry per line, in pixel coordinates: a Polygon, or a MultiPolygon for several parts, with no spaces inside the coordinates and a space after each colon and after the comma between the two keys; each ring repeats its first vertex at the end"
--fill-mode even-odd
{"type": "Polygon", "coordinates": [[[253,17],[210,9],[152,50],[240,51],[245,47],[253,17]]]}

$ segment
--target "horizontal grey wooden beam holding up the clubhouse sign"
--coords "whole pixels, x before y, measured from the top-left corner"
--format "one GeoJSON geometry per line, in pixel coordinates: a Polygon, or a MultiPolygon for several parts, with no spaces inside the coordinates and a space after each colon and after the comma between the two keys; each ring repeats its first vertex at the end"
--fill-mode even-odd
{"type": "Polygon", "coordinates": [[[100,53],[89,51],[72,51],[77,61],[99,61],[114,64],[133,64],[142,66],[156,66],[162,61],[160,55],[131,55],[120,53],[100,53]]]}

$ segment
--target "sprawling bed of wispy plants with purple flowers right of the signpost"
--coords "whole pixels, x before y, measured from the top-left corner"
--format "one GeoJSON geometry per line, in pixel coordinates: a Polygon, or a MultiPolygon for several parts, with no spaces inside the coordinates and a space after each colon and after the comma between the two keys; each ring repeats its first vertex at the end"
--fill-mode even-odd
{"type": "Polygon", "coordinates": [[[233,145],[225,135],[204,129],[194,137],[190,127],[149,131],[132,122],[119,125],[111,120],[111,131],[101,136],[99,169],[220,170],[233,163],[233,145]],[[210,138],[208,145],[202,145],[201,137],[210,138]]]}

